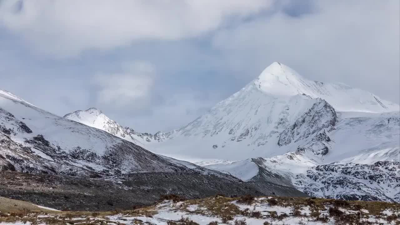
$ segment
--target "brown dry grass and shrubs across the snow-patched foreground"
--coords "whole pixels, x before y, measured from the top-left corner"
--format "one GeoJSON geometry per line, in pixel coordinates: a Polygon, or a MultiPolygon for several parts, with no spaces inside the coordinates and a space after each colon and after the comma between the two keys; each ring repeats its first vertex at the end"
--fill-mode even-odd
{"type": "MultiPolygon", "coordinates": [[[[292,198],[292,197],[273,197],[273,198],[255,198],[254,196],[246,195],[242,197],[229,198],[221,195],[208,197],[206,199],[182,199],[177,195],[164,195],[160,201],[171,201],[172,207],[176,211],[184,211],[190,214],[214,216],[220,218],[219,221],[231,225],[246,225],[246,219],[234,219],[238,215],[265,219],[264,225],[274,225],[274,222],[286,221],[288,217],[298,217],[302,221],[299,225],[307,224],[307,221],[318,221],[320,223],[328,223],[331,220],[335,221],[335,225],[368,225],[377,224],[366,222],[365,219],[374,216],[380,221],[385,220],[387,223],[400,225],[400,204],[385,203],[385,202],[364,202],[364,201],[342,201],[334,199],[319,199],[319,198],[292,198]],[[239,203],[247,206],[247,209],[238,207],[234,203],[239,203]],[[256,205],[267,204],[268,209],[274,207],[289,208],[288,213],[277,213],[276,211],[257,211],[256,205]],[[190,209],[191,205],[196,205],[196,208],[190,209]],[[253,208],[254,207],[254,208],[253,208]],[[302,213],[303,209],[309,210],[308,214],[302,213]],[[386,215],[383,212],[390,209],[394,213],[386,215]],[[324,215],[321,214],[324,211],[324,215]],[[364,219],[364,221],[363,221],[364,219]]],[[[110,215],[126,215],[127,217],[153,217],[157,214],[155,206],[144,207],[140,209],[132,209],[128,211],[108,211],[108,212],[78,212],[78,211],[50,211],[41,209],[23,201],[0,198],[0,223],[1,222],[16,222],[29,221],[32,224],[46,223],[51,225],[56,224],[104,224],[112,223],[108,219],[110,215]],[[41,215],[41,216],[39,216],[41,215]],[[43,215],[47,215],[43,217],[43,215]],[[79,219],[76,219],[79,218],[79,219]],[[72,221],[72,219],[74,219],[72,221]]],[[[145,221],[134,220],[133,224],[146,224],[145,221]]],[[[115,223],[115,222],[114,222],[115,223]]],[[[182,217],[176,221],[168,221],[168,225],[198,225],[196,221],[192,221],[190,217],[182,217]]],[[[281,224],[282,222],[280,222],[281,224]]],[[[218,225],[218,221],[210,222],[209,225],[218,225]]]]}

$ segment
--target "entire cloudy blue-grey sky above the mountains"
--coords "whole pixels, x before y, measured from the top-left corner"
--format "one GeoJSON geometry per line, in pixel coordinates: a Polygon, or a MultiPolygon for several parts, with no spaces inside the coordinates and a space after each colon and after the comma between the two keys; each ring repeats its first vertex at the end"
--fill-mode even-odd
{"type": "Polygon", "coordinates": [[[398,0],[0,0],[0,88],[176,129],[274,61],[400,102],[398,0]]]}

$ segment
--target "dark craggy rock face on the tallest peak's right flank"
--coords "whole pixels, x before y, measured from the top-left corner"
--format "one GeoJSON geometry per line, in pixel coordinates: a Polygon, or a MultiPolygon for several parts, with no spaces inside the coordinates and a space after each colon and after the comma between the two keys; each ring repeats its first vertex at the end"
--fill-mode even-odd
{"type": "MultiPolygon", "coordinates": [[[[335,109],[328,102],[319,98],[293,125],[280,134],[278,145],[288,145],[292,141],[304,140],[322,129],[332,131],[337,121],[335,109]]],[[[324,138],[322,136],[320,138],[324,138]]]]}

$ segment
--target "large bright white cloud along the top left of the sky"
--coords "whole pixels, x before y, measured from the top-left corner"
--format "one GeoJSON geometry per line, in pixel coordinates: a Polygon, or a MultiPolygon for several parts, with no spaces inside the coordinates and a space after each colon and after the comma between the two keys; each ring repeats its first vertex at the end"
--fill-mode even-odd
{"type": "Polygon", "coordinates": [[[0,25],[53,56],[108,50],[135,40],[180,40],[248,16],[272,0],[3,0],[0,25]]]}

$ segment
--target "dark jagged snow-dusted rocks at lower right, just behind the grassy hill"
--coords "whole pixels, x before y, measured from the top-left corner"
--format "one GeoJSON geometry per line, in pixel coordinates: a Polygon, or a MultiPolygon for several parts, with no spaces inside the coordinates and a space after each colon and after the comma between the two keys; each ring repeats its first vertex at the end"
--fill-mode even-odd
{"type": "Polygon", "coordinates": [[[400,163],[320,165],[298,175],[295,184],[316,197],[399,202],[400,163]]]}

